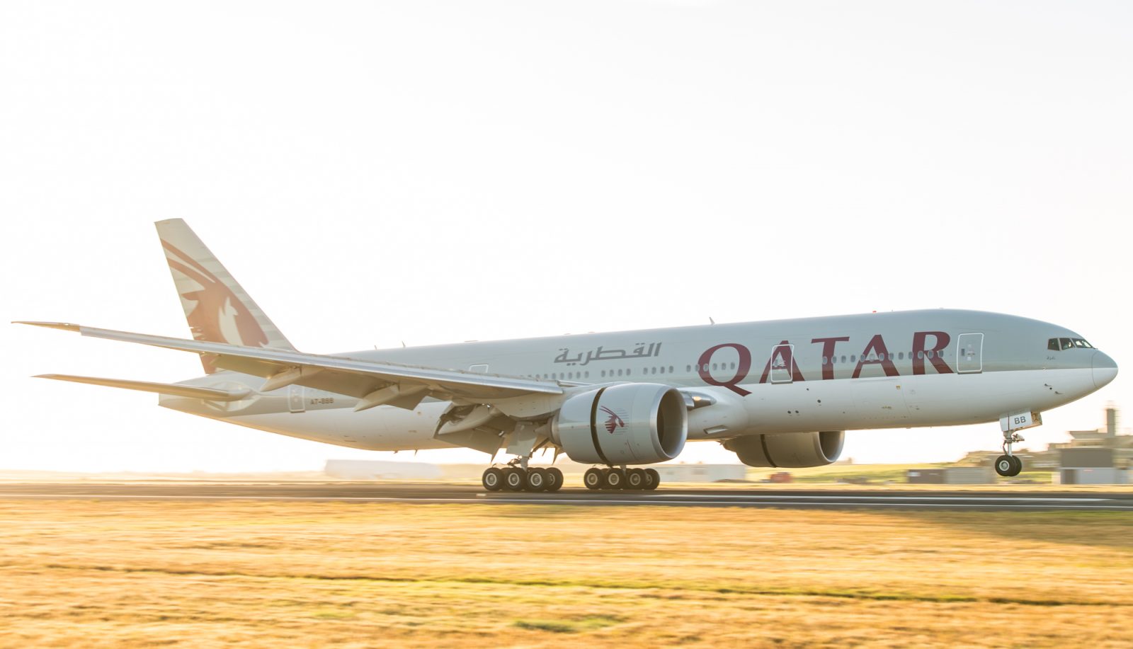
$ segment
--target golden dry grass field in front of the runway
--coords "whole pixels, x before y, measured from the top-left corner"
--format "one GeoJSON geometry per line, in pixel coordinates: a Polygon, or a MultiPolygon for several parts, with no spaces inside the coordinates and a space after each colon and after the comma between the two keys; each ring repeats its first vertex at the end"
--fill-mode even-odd
{"type": "Polygon", "coordinates": [[[0,501],[0,647],[1130,647],[1133,514],[0,501]]]}

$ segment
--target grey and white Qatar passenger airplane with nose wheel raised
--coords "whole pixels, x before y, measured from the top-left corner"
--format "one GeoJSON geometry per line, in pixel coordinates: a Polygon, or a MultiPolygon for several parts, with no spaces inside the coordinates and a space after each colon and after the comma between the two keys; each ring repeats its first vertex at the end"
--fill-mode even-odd
{"type": "Polygon", "coordinates": [[[685,442],[801,468],[835,462],[846,430],[991,421],[1003,433],[995,469],[1012,477],[1020,430],[1117,376],[1066,327],[956,309],[307,353],[185,221],[156,228],[191,340],[17,324],[194,352],[204,376],[40,377],[156,393],[173,410],[353,449],[475,449],[492,455],[488,490],[559,490],[553,461],[529,466],[539,450],[594,464],[589,489],[656,489],[648,464],[685,442]],[[513,458],[495,463],[501,450],[513,458]]]}

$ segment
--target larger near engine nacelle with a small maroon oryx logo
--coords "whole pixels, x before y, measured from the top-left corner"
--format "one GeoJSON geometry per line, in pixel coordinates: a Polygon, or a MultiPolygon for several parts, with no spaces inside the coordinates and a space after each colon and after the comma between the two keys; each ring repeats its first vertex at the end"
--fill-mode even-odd
{"type": "Polygon", "coordinates": [[[689,436],[684,396],[656,383],[623,383],[576,394],[551,420],[551,436],[576,462],[672,460],[689,436]]]}

